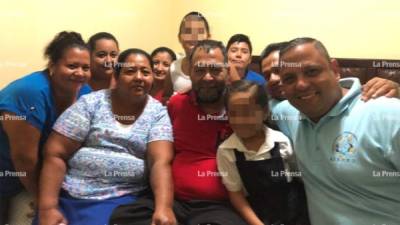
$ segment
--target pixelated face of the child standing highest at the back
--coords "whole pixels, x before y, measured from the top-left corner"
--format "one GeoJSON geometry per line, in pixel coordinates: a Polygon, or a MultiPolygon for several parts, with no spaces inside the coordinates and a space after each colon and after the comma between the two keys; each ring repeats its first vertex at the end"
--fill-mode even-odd
{"type": "Polygon", "coordinates": [[[210,34],[206,30],[204,21],[198,20],[195,16],[186,17],[180,30],[179,42],[185,54],[190,55],[197,42],[208,39],[210,34]]]}

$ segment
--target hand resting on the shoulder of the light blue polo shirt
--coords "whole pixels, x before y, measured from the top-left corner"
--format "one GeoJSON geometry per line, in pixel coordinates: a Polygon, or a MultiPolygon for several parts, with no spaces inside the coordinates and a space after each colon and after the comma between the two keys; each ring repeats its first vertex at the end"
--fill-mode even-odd
{"type": "Polygon", "coordinates": [[[371,98],[380,96],[399,97],[399,92],[398,83],[388,79],[374,77],[363,85],[361,99],[363,101],[368,101],[371,98]]]}

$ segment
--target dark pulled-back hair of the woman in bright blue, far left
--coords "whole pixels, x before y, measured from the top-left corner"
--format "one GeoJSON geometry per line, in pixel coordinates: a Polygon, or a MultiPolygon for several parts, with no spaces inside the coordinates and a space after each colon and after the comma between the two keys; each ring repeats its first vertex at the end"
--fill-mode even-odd
{"type": "Polygon", "coordinates": [[[47,45],[44,51],[44,57],[51,63],[57,63],[58,60],[63,57],[65,51],[70,48],[79,48],[89,51],[80,33],[62,31],[47,45]]]}

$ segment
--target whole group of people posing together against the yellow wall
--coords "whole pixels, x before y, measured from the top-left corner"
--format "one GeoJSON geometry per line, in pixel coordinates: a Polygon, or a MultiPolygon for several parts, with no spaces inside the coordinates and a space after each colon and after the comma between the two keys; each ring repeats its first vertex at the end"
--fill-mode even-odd
{"type": "Polygon", "coordinates": [[[198,12],[178,38],[179,59],[64,31],[0,91],[0,224],[23,193],[40,225],[400,224],[397,83],[340,79],[313,38],[258,74],[198,12]]]}

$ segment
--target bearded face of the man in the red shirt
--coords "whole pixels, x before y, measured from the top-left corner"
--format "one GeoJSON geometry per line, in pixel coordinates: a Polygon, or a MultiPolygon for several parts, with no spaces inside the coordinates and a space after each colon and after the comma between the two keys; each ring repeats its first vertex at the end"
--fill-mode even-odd
{"type": "Polygon", "coordinates": [[[219,48],[209,52],[197,48],[190,68],[190,79],[199,103],[214,103],[225,90],[227,69],[224,55],[219,48]]]}

